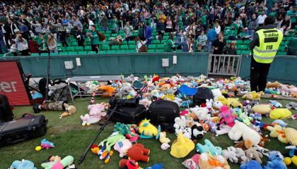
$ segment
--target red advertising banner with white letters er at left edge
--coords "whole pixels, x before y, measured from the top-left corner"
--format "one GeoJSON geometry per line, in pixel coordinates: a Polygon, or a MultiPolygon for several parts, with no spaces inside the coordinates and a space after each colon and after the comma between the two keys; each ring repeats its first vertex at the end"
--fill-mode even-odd
{"type": "Polygon", "coordinates": [[[30,105],[20,68],[18,61],[0,61],[0,94],[8,97],[11,106],[30,105]]]}

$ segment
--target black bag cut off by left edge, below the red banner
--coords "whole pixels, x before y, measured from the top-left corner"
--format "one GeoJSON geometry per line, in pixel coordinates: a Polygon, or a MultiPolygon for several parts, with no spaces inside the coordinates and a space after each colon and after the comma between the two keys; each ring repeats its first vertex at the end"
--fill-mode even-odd
{"type": "Polygon", "coordinates": [[[13,120],[13,112],[5,95],[0,94],[0,122],[13,120]]]}

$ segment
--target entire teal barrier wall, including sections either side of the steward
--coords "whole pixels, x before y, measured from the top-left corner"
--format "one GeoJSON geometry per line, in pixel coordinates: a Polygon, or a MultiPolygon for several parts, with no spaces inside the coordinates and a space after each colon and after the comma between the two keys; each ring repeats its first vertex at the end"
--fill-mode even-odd
{"type": "MultiPolygon", "coordinates": [[[[18,58],[25,73],[42,77],[47,71],[47,56],[6,57],[18,58]]],[[[87,56],[52,56],[50,75],[65,78],[74,75],[200,75],[207,74],[208,53],[154,53],[112,54],[87,56]],[[177,64],[173,65],[173,55],[177,64]],[[76,57],[81,58],[81,67],[76,67],[76,57]],[[169,58],[169,67],[162,67],[162,58],[169,58]],[[73,61],[74,69],[66,70],[64,61],[73,61]]],[[[250,78],[250,56],[243,56],[239,75],[250,78]]],[[[297,56],[276,56],[269,70],[269,80],[297,84],[297,56]]]]}

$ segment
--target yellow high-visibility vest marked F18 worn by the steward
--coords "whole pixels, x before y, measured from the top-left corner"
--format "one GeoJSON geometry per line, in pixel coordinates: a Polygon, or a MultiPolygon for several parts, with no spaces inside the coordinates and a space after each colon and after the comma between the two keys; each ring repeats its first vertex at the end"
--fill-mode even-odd
{"type": "Polygon", "coordinates": [[[257,63],[272,63],[276,56],[279,45],[283,40],[283,33],[280,30],[258,30],[260,46],[255,46],[253,51],[253,57],[257,63]]]}

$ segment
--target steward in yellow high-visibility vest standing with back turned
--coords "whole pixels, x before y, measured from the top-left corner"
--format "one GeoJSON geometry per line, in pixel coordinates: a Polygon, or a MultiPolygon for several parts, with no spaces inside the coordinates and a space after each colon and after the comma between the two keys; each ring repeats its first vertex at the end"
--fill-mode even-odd
{"type": "Polygon", "coordinates": [[[283,40],[283,33],[276,29],[275,18],[268,16],[264,20],[264,27],[255,32],[250,49],[250,88],[252,91],[264,92],[267,83],[270,63],[274,60],[279,45],[283,40]]]}

